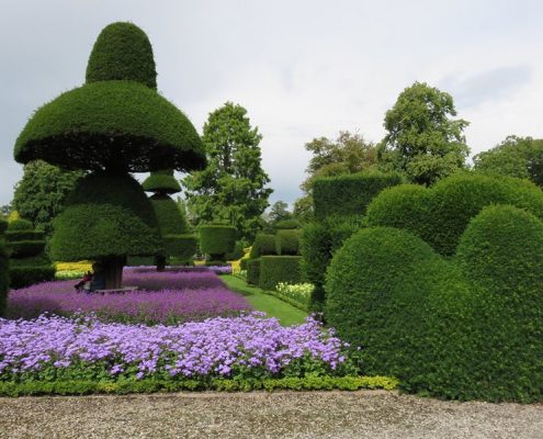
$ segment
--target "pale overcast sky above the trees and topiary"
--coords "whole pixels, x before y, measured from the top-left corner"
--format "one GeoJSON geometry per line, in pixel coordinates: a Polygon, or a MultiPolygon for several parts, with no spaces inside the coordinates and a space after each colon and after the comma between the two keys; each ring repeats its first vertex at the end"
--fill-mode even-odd
{"type": "Polygon", "coordinates": [[[0,0],[0,204],[22,166],[13,144],[39,105],[84,81],[100,31],[149,36],[160,92],[199,132],[226,101],[263,140],[271,201],[292,203],[304,144],[349,130],[378,142],[414,81],[451,93],[472,154],[507,135],[543,137],[539,0],[0,0]]]}

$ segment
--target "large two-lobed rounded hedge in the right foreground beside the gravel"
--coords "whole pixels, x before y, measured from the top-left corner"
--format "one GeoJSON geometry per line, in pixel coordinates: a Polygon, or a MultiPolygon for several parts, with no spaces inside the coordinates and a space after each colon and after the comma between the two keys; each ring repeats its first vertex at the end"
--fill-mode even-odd
{"type": "Polygon", "coordinates": [[[328,323],[362,346],[365,372],[446,398],[543,397],[543,222],[491,205],[444,259],[420,238],[367,228],[335,255],[328,323]]]}

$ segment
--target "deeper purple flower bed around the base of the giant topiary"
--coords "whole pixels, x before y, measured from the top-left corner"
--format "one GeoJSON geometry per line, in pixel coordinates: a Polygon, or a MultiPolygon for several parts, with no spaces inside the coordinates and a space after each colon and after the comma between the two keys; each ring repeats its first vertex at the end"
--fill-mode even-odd
{"type": "Polygon", "coordinates": [[[94,313],[108,322],[179,324],[215,316],[237,316],[252,307],[229,291],[208,270],[156,272],[125,270],[124,284],[139,290],[123,294],[86,294],[75,281],[56,281],[13,290],[8,299],[8,318],[35,318],[47,312],[69,316],[94,313]]]}

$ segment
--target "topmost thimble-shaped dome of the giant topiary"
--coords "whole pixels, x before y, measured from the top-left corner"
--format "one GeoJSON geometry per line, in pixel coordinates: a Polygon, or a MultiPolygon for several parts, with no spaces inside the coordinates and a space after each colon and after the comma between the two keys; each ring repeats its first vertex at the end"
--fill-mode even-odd
{"type": "Polygon", "coordinates": [[[128,80],[157,89],[152,47],[147,35],[132,23],[105,26],[87,65],[87,82],[128,80]]]}

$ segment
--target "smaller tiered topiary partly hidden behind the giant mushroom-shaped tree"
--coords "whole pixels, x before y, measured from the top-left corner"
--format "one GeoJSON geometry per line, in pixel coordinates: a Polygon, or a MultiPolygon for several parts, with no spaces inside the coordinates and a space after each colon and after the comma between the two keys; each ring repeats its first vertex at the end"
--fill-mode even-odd
{"type": "Polygon", "coordinates": [[[196,238],[188,233],[186,219],[170,198],[170,194],[181,190],[179,182],[173,178],[173,170],[151,172],[142,185],[145,191],[154,192],[150,201],[162,238],[162,250],[156,255],[157,271],[165,270],[170,257],[184,262],[190,261],[196,251],[196,238]]]}

